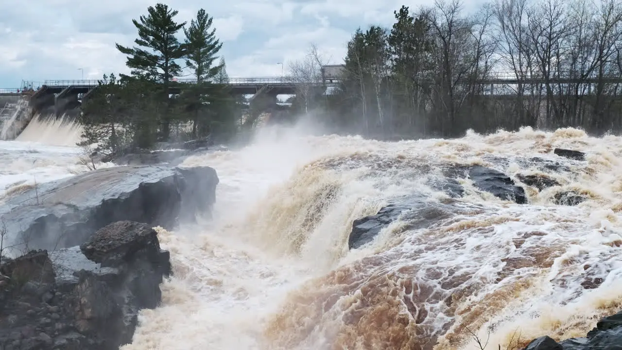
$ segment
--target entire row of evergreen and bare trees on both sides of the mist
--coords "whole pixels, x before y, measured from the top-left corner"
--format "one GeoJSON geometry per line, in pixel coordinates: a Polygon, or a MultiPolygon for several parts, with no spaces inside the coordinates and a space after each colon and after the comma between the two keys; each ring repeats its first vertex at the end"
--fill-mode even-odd
{"type": "Polygon", "coordinates": [[[328,62],[314,45],[292,62],[287,75],[297,91],[289,111],[270,107],[276,101],[267,95],[248,106],[230,93],[205,11],[187,25],[157,4],[133,21],[134,47],[117,45],[131,74],[104,77],[85,99],[83,144],[113,153],[209,135],[226,141],[270,108],[271,121],[307,115],[330,131],[384,140],[521,126],[618,132],[622,2],[595,1],[493,0],[475,12],[458,0],[402,6],[391,28],[353,34],[337,87],[325,88],[328,62]],[[182,66],[197,83],[180,89],[174,77],[182,66]]]}

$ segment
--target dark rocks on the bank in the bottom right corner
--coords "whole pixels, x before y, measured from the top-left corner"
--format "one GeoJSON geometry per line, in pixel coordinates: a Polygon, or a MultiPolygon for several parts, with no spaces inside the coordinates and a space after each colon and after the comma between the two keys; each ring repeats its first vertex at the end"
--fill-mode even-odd
{"type": "Polygon", "coordinates": [[[549,336],[531,341],[525,350],[622,349],[622,311],[602,318],[585,338],[570,338],[557,343],[549,336]]]}

